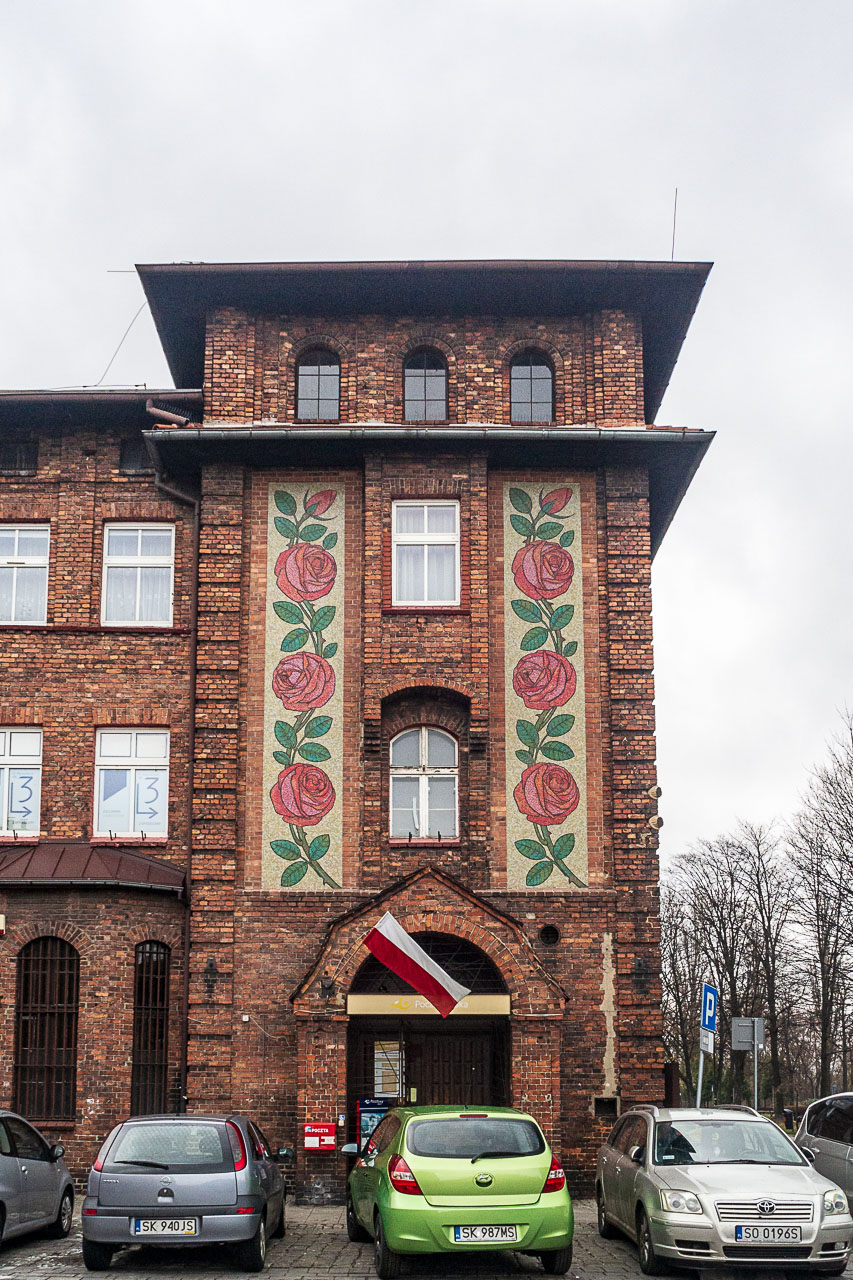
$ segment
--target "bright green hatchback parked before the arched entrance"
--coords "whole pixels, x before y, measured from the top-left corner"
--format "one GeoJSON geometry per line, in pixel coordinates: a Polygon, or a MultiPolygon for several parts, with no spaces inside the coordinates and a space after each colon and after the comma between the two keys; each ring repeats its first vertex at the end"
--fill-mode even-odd
{"type": "Polygon", "coordinates": [[[402,1254],[517,1249],[549,1275],[571,1266],[566,1175],[533,1116],[510,1107],[394,1107],[357,1156],[347,1235],[374,1240],[380,1280],[402,1254]]]}

